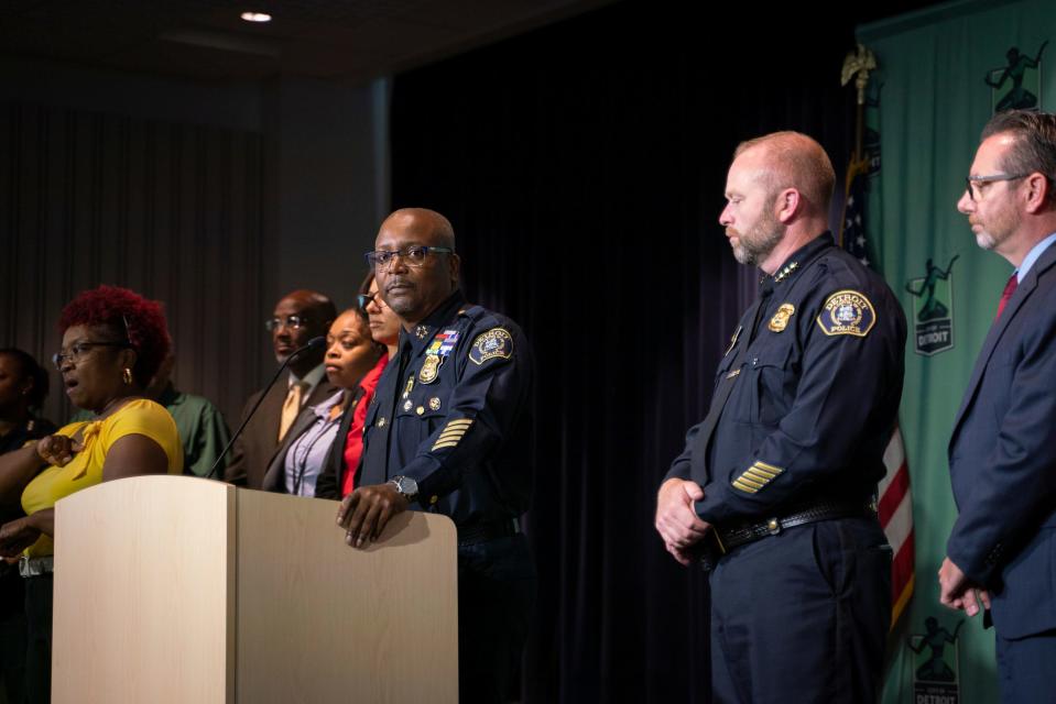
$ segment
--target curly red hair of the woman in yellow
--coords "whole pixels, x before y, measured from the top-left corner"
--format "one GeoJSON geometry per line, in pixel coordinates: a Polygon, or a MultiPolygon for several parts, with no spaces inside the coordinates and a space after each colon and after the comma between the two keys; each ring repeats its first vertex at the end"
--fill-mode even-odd
{"type": "Polygon", "coordinates": [[[172,344],[161,302],[118,286],[77,294],[58,318],[59,334],[74,326],[104,327],[113,334],[113,342],[128,342],[135,350],[132,374],[143,386],[153,378],[172,344]]]}

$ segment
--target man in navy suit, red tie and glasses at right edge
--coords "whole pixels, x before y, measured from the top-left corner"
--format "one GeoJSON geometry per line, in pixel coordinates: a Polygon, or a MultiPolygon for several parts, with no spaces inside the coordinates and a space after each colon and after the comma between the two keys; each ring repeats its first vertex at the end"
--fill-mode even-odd
{"type": "Polygon", "coordinates": [[[957,209],[979,246],[1015,271],[949,441],[959,515],[939,598],[969,616],[980,602],[992,614],[1004,702],[1047,701],[1056,662],[1056,116],[994,116],[957,209]]]}

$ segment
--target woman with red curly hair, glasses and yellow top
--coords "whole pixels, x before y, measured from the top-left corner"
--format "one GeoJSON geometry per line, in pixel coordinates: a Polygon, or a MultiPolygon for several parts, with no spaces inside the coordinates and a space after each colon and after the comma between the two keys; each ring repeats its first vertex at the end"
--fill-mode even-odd
{"type": "Polygon", "coordinates": [[[170,346],[161,305],[100,286],[63,309],[59,331],[63,346],[54,362],[63,387],[95,417],[0,457],[0,502],[21,501],[26,514],[0,527],[0,556],[21,554],[30,702],[47,702],[51,691],[55,502],[100,482],[183,471],[172,416],[143,396],[170,346]]]}

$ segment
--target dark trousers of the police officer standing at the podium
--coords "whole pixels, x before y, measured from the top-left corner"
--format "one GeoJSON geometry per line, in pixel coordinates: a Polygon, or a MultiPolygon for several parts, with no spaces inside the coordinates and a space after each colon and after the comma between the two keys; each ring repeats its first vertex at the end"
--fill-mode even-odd
{"type": "Polygon", "coordinates": [[[458,548],[461,704],[510,701],[532,620],[535,590],[535,564],[523,535],[458,548]]]}

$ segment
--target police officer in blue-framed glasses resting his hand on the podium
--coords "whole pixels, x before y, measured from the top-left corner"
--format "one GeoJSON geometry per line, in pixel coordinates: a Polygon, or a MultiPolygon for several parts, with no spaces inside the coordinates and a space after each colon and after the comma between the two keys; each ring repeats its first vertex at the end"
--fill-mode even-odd
{"type": "Polygon", "coordinates": [[[364,547],[409,508],[455,521],[459,700],[502,702],[535,594],[519,525],[532,498],[532,350],[515,322],[466,302],[444,216],[398,210],[374,248],[368,264],[403,328],[367,410],[361,483],[338,522],[364,547]]]}

